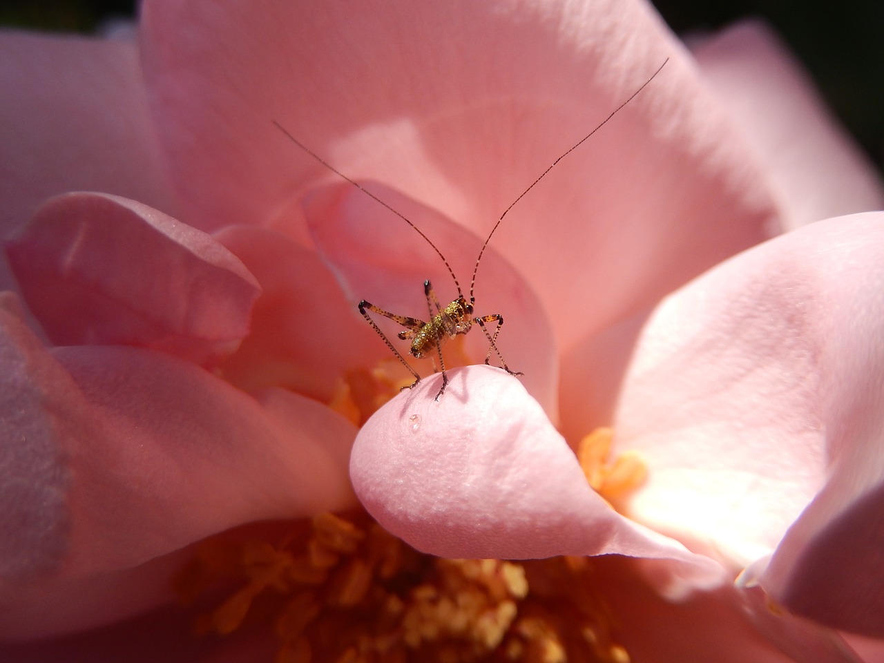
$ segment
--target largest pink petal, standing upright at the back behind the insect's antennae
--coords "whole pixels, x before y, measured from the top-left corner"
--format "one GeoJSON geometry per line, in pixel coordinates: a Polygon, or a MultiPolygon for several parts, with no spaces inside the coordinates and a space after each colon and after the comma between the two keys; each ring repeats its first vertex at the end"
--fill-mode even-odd
{"type": "Polygon", "coordinates": [[[333,178],[277,121],[350,177],[484,236],[669,57],[492,242],[565,350],[775,221],[762,173],[648,4],[148,4],[142,27],[160,132],[199,227],[271,223],[333,178]]]}

